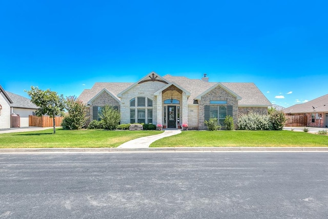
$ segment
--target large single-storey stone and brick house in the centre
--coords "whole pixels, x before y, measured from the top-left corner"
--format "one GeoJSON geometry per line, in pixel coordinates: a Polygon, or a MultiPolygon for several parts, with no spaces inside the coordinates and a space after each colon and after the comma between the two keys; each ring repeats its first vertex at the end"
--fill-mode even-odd
{"type": "Polygon", "coordinates": [[[201,79],[150,72],[135,83],[95,83],[78,97],[87,106],[91,120],[99,120],[101,107],[110,105],[121,113],[121,124],[162,124],[163,128],[206,129],[204,121],[238,114],[267,114],[272,106],[254,83],[214,83],[201,79]]]}

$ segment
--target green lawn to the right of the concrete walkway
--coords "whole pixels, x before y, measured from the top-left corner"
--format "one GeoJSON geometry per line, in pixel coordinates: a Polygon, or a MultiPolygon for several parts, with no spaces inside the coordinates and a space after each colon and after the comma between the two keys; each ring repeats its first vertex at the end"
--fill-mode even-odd
{"type": "Polygon", "coordinates": [[[327,147],[328,136],[293,131],[182,131],[150,147],[327,147]]]}

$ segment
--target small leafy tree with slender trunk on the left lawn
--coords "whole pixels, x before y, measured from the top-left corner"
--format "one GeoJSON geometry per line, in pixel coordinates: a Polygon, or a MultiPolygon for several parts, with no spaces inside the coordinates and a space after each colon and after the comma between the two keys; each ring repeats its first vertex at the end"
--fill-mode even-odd
{"type": "Polygon", "coordinates": [[[49,115],[53,118],[53,133],[56,133],[55,116],[64,116],[64,96],[57,95],[57,92],[40,90],[38,87],[31,86],[31,90],[25,91],[31,97],[31,102],[39,107],[36,110],[37,116],[49,115]]]}

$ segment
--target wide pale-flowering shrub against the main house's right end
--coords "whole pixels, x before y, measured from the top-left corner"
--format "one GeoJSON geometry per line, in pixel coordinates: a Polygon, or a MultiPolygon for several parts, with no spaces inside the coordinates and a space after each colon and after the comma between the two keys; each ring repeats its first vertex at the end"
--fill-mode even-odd
{"type": "Polygon", "coordinates": [[[273,130],[269,115],[259,113],[243,114],[239,116],[237,124],[241,130],[273,130]]]}

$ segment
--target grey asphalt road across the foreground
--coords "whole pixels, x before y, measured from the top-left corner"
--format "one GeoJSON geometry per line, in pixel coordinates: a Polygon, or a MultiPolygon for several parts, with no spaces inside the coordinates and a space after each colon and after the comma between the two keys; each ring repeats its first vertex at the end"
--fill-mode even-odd
{"type": "Polygon", "coordinates": [[[328,218],[327,158],[0,154],[0,218],[328,218]]]}

